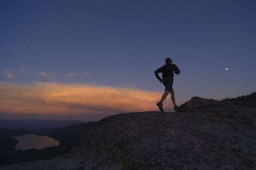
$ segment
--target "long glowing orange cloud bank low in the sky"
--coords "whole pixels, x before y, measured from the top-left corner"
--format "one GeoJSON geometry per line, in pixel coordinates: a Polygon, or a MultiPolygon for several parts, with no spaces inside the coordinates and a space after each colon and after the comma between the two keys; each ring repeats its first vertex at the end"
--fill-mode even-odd
{"type": "Polygon", "coordinates": [[[158,110],[161,93],[136,88],[35,82],[0,82],[0,112],[7,114],[116,114],[158,110]]]}

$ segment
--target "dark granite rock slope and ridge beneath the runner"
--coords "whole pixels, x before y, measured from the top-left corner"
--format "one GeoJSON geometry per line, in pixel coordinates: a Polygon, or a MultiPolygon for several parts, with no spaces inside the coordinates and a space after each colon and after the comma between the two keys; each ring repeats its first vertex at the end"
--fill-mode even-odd
{"type": "Polygon", "coordinates": [[[68,154],[0,169],[256,169],[255,105],[196,97],[180,109],[110,116],[68,154]]]}

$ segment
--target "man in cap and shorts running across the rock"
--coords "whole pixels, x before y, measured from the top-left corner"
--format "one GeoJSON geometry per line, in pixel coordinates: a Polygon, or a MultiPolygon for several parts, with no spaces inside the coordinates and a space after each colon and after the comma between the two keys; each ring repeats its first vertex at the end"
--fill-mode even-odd
{"type": "Polygon", "coordinates": [[[178,106],[176,105],[176,102],[175,102],[174,90],[172,88],[173,76],[174,76],[173,72],[175,74],[179,74],[180,70],[176,65],[174,65],[174,63],[172,63],[172,60],[170,58],[165,59],[165,65],[163,67],[160,67],[156,71],[154,71],[154,75],[156,75],[157,79],[160,82],[163,82],[163,84],[165,86],[164,94],[161,97],[160,102],[157,103],[157,106],[159,107],[160,111],[164,111],[163,102],[164,102],[165,98],[169,95],[169,93],[171,93],[174,110],[178,109],[178,106]],[[158,73],[162,73],[163,79],[161,79],[159,77],[158,73]]]}

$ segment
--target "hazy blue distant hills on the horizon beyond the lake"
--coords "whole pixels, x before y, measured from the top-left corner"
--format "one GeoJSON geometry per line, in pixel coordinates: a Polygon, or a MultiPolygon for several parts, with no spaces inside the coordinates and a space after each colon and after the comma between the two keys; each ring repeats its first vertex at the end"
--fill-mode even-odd
{"type": "Polygon", "coordinates": [[[41,119],[25,119],[25,120],[0,120],[0,129],[53,129],[64,128],[65,126],[82,124],[82,121],[54,121],[41,119]]]}

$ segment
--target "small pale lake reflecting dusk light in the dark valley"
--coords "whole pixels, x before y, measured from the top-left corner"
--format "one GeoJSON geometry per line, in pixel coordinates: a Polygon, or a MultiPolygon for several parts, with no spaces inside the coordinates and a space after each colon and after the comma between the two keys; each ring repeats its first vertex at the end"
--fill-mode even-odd
{"type": "Polygon", "coordinates": [[[18,140],[15,146],[16,150],[29,150],[31,148],[38,148],[41,150],[45,147],[58,146],[59,141],[47,136],[36,136],[35,134],[25,134],[21,136],[12,137],[18,140]]]}

